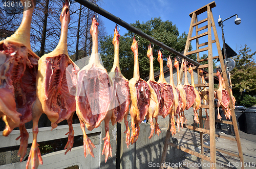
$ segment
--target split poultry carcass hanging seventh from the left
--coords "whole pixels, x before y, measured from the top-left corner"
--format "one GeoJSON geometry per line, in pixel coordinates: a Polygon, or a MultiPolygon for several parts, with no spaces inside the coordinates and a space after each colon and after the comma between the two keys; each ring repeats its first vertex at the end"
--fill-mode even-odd
{"type": "Polygon", "coordinates": [[[163,55],[161,51],[158,51],[157,61],[160,65],[159,80],[157,83],[161,86],[161,100],[159,104],[159,115],[164,118],[170,114],[174,106],[174,92],[173,87],[170,86],[164,79],[163,74],[163,55]]]}

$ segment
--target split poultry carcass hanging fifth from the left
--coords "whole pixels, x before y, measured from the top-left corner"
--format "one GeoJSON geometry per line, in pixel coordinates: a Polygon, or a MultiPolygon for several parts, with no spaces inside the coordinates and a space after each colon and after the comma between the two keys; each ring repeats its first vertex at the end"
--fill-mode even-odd
{"type": "Polygon", "coordinates": [[[134,53],[134,73],[133,78],[129,81],[131,101],[130,114],[131,114],[131,128],[132,134],[130,143],[135,143],[139,137],[140,126],[142,120],[148,112],[148,106],[150,105],[150,86],[140,78],[139,72],[139,53],[138,53],[138,42],[133,37],[133,43],[131,49],[134,53]]]}

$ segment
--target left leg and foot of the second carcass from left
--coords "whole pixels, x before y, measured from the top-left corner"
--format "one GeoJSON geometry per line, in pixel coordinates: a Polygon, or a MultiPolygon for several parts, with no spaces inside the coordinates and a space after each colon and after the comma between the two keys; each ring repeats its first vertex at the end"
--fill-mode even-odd
{"type": "Polygon", "coordinates": [[[37,143],[37,134],[38,134],[38,121],[43,113],[42,105],[38,98],[32,107],[32,118],[33,118],[33,142],[30,149],[28,162],[26,164],[26,169],[37,168],[39,164],[42,164],[42,157],[40,150],[38,148],[39,144],[37,143]]]}

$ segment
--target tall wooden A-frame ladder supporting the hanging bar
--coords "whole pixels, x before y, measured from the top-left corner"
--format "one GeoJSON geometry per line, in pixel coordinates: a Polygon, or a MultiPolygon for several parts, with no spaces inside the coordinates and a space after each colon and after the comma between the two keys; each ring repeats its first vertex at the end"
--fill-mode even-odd
{"type": "MultiPolygon", "coordinates": [[[[183,125],[183,127],[187,128],[187,129],[191,129],[191,130],[200,132],[201,153],[198,153],[198,152],[192,151],[190,149],[181,147],[181,146],[179,146],[179,145],[170,141],[171,133],[170,133],[170,120],[169,120],[169,127],[168,127],[168,130],[167,130],[167,133],[166,133],[164,148],[163,148],[162,157],[161,157],[161,161],[160,161],[161,164],[165,163],[168,146],[172,146],[174,148],[180,149],[181,151],[184,151],[184,152],[189,153],[191,155],[195,155],[195,156],[197,156],[197,157],[199,157],[203,160],[209,161],[210,162],[210,168],[216,168],[216,151],[219,151],[221,153],[225,153],[225,154],[240,158],[242,168],[244,168],[244,165],[243,165],[244,164],[244,159],[243,159],[243,153],[242,153],[242,148],[241,148],[241,141],[240,141],[240,136],[239,136],[237,119],[236,119],[236,114],[234,113],[234,107],[233,107],[233,103],[232,103],[231,93],[230,93],[230,90],[228,89],[228,87],[227,87],[227,91],[228,91],[228,94],[230,96],[229,108],[230,108],[230,111],[231,111],[232,122],[230,122],[228,120],[215,120],[214,76],[216,76],[216,74],[214,74],[213,59],[218,59],[218,58],[220,59],[222,72],[223,72],[223,78],[224,78],[224,81],[225,81],[225,86],[229,86],[229,84],[228,84],[227,73],[226,73],[225,64],[224,64],[224,60],[223,60],[223,56],[222,56],[222,52],[221,52],[221,46],[220,46],[219,38],[218,38],[218,35],[217,35],[216,25],[215,25],[215,22],[214,22],[214,17],[212,15],[212,11],[211,11],[211,8],[214,8],[214,7],[216,7],[215,2],[211,2],[211,3],[203,6],[202,8],[200,8],[200,9],[198,9],[198,10],[189,14],[189,16],[191,17],[191,22],[190,22],[190,27],[189,27],[187,41],[186,41],[185,50],[184,50],[184,55],[185,56],[191,55],[191,54],[197,54],[197,61],[198,62],[208,60],[208,64],[193,67],[193,69],[197,69],[197,71],[198,71],[198,84],[196,84],[196,87],[198,87],[199,90],[200,90],[201,87],[206,86],[206,87],[208,87],[208,91],[209,91],[209,104],[208,105],[202,104],[202,106],[199,110],[200,128],[197,128],[195,126],[183,125]],[[204,12],[207,12],[207,18],[198,21],[198,15],[200,15],[204,12]],[[207,25],[203,26],[201,28],[198,28],[198,26],[201,25],[204,22],[206,22],[207,25]],[[194,27],[196,28],[196,36],[192,37],[192,32],[193,32],[194,27]],[[212,40],[211,28],[214,31],[215,40],[212,40]],[[203,30],[207,30],[207,31],[204,32],[204,33],[199,34],[199,32],[203,31],[203,30]],[[204,43],[199,43],[199,38],[204,37],[204,36],[208,36],[208,41],[204,42],[204,43]],[[195,51],[188,52],[190,41],[192,41],[192,40],[196,40],[197,49],[195,51]],[[212,43],[216,43],[219,56],[212,57],[212,43]],[[204,51],[208,51],[208,58],[200,59],[199,53],[204,52],[204,51]],[[200,68],[206,68],[206,67],[208,67],[208,75],[206,75],[206,76],[208,76],[208,78],[209,78],[207,85],[201,83],[200,75],[199,75],[199,69],[200,68]],[[203,123],[202,123],[202,120],[203,120],[203,118],[202,118],[202,109],[205,109],[205,108],[209,109],[209,111],[208,111],[209,112],[209,130],[204,129],[203,128],[203,123]],[[233,125],[234,133],[235,133],[236,137],[227,137],[227,136],[224,136],[224,135],[216,135],[216,131],[215,131],[215,123],[216,122],[233,125]],[[203,134],[209,134],[210,146],[207,146],[207,145],[204,144],[203,134]],[[234,153],[231,153],[231,152],[227,152],[225,150],[217,149],[216,148],[216,137],[221,137],[221,138],[237,141],[239,154],[234,154],[234,153]],[[204,151],[203,151],[204,148],[210,149],[210,156],[204,155],[204,151]]],[[[184,61],[184,59],[183,59],[183,61],[184,61]]],[[[181,76],[181,78],[183,77],[183,64],[181,64],[180,76],[181,76]]],[[[161,166],[160,168],[162,169],[164,167],[161,166]]],[[[170,168],[170,167],[168,167],[168,168],[170,168]]]]}

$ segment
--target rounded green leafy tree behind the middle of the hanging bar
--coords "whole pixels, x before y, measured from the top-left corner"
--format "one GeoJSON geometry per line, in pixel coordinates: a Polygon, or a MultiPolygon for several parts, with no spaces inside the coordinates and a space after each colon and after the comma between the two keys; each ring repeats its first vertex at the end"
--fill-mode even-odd
{"type": "MultiPolygon", "coordinates": [[[[161,18],[154,18],[146,21],[145,23],[140,23],[136,21],[136,23],[132,23],[132,26],[139,29],[140,31],[146,33],[157,39],[160,42],[163,42],[167,46],[172,47],[178,52],[184,51],[187,34],[182,33],[179,34],[178,28],[173,25],[172,21],[162,21],[161,18]]],[[[122,29],[121,29],[122,31],[122,29]]],[[[119,47],[119,63],[121,72],[124,77],[127,79],[131,79],[133,77],[133,67],[134,67],[134,54],[131,50],[132,38],[135,34],[131,31],[124,34],[124,36],[120,37],[120,47],[119,47]]],[[[104,67],[107,71],[110,71],[113,66],[114,61],[114,45],[112,44],[112,36],[105,36],[103,40],[100,41],[101,48],[101,59],[103,61],[104,67]]],[[[138,40],[138,38],[136,37],[138,40]]],[[[145,79],[145,77],[150,74],[150,61],[146,56],[147,45],[150,44],[150,41],[141,38],[138,41],[138,50],[139,50],[139,66],[140,66],[140,77],[145,79]]],[[[153,48],[153,57],[154,59],[154,71],[159,70],[159,63],[157,61],[157,50],[160,50],[160,47],[155,45],[153,48]]],[[[190,49],[191,50],[191,46],[190,49]]],[[[163,50],[161,51],[163,54],[163,65],[166,64],[168,55],[172,55],[172,53],[163,50]]],[[[195,55],[188,56],[195,60],[195,55]]],[[[174,59],[174,55],[173,55],[174,59]]]]}

